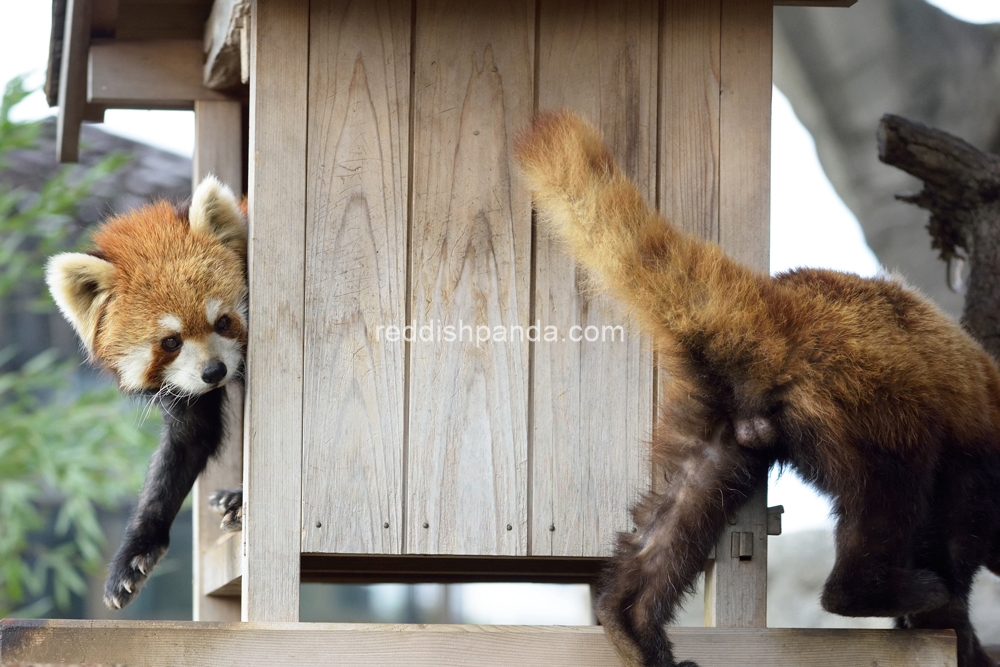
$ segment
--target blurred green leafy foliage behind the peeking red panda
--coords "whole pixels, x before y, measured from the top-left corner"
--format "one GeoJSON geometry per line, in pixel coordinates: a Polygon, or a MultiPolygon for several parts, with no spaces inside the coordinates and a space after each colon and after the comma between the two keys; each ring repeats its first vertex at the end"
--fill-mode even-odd
{"type": "MultiPolygon", "coordinates": [[[[0,168],[10,151],[38,139],[40,123],[10,118],[28,94],[20,78],[4,91],[0,168]]],[[[112,155],[61,168],[37,193],[0,184],[0,302],[33,292],[36,309],[54,308],[41,284],[45,259],[73,249],[79,202],[126,161],[112,155]]],[[[0,350],[0,368],[14,354],[0,350]]],[[[156,425],[142,425],[140,410],[113,387],[73,389],[78,365],[50,350],[0,372],[0,616],[65,609],[71,594],[86,592],[85,575],[103,565],[98,509],[135,493],[155,446],[156,425]],[[38,539],[44,534],[55,544],[38,539]]]]}

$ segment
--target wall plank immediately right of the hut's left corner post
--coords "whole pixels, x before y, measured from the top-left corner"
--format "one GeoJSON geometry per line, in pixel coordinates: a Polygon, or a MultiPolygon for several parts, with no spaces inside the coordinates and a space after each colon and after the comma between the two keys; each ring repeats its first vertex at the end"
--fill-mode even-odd
{"type": "Polygon", "coordinates": [[[302,549],[399,554],[410,0],[314,0],[302,549]]]}

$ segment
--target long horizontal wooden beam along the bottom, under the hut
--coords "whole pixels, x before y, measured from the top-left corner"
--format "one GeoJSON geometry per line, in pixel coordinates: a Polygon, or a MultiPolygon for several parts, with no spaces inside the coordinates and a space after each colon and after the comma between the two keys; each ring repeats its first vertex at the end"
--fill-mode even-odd
{"type": "MultiPolygon", "coordinates": [[[[722,630],[675,628],[681,660],[705,667],[955,667],[951,630],[722,630]]],[[[130,667],[618,667],[599,627],[0,622],[0,660],[130,667]]]]}

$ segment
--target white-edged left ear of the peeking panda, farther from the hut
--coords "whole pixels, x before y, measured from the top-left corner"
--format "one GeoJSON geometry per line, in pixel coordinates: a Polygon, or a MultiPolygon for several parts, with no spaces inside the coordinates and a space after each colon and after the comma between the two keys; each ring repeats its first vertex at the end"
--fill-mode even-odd
{"type": "Polygon", "coordinates": [[[114,264],[78,252],[52,257],[45,269],[52,298],[90,353],[94,351],[101,305],[111,292],[114,279],[114,264]]]}

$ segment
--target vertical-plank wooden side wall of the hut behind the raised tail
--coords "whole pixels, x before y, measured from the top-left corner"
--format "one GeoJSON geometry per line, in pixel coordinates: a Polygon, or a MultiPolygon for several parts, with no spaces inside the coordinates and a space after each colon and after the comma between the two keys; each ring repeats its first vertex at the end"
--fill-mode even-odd
{"type": "MultiPolygon", "coordinates": [[[[751,119],[750,142],[735,120],[720,129],[720,108],[736,119],[742,94],[722,72],[742,76],[748,44],[770,49],[769,24],[740,23],[748,3],[770,11],[770,0],[311,0],[295,3],[308,25],[296,18],[294,34],[254,26],[258,79],[308,60],[269,84],[273,98],[258,81],[252,100],[258,124],[292,113],[282,133],[251,130],[291,155],[268,166],[255,153],[257,170],[289,185],[258,173],[251,188],[252,214],[276,216],[253,223],[273,238],[251,230],[252,314],[291,326],[255,319],[248,457],[279,442],[301,455],[286,457],[301,466],[301,517],[267,510],[271,530],[300,518],[303,553],[610,553],[651,481],[644,439],[662,379],[640,337],[477,345],[389,340],[384,327],[626,324],[534,230],[511,144],[539,108],[591,118],[651,202],[766,269],[767,126],[757,136],[751,119]],[[740,156],[729,169],[727,151],[740,156]],[[729,193],[749,193],[750,224],[729,193]],[[277,384],[260,375],[271,368],[277,384]]],[[[260,17],[283,6],[259,4],[260,17]]],[[[754,94],[769,95],[770,72],[758,74],[754,94]]],[[[258,488],[279,472],[267,460],[251,473],[258,488]]],[[[269,501],[252,484],[251,526],[269,501]]]]}

